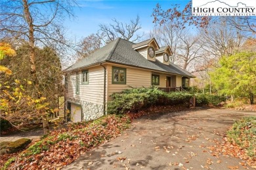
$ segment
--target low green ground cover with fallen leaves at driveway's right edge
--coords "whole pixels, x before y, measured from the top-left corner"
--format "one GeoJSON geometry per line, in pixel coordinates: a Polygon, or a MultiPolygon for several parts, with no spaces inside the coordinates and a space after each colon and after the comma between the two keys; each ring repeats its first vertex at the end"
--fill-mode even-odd
{"type": "Polygon", "coordinates": [[[227,131],[228,140],[246,150],[249,158],[256,158],[256,116],[236,121],[227,131]]]}

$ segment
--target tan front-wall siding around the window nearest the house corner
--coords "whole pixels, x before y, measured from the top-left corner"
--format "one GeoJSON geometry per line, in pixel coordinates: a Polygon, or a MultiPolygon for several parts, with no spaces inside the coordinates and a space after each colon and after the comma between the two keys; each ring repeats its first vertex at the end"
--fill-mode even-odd
{"type": "Polygon", "coordinates": [[[147,70],[141,70],[137,68],[130,68],[126,66],[117,66],[119,68],[126,68],[126,85],[112,84],[112,64],[108,64],[106,67],[108,70],[108,96],[116,92],[121,92],[124,89],[130,89],[131,87],[150,87],[151,86],[151,72],[147,70]]]}

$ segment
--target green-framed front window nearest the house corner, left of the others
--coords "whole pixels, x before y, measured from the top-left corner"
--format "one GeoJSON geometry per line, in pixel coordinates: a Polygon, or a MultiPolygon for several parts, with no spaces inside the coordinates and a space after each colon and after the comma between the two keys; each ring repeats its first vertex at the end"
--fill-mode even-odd
{"type": "Polygon", "coordinates": [[[112,67],[112,84],[126,84],[126,68],[112,67]]]}

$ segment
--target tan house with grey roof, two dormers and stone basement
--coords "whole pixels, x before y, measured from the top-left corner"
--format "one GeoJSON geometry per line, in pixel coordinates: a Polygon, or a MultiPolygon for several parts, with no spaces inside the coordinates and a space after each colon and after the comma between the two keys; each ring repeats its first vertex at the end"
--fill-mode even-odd
{"type": "Polygon", "coordinates": [[[71,120],[103,116],[110,95],[131,87],[189,87],[194,75],[170,62],[171,55],[171,48],[160,48],[154,38],[140,43],[117,38],[66,68],[65,108],[71,120]]]}

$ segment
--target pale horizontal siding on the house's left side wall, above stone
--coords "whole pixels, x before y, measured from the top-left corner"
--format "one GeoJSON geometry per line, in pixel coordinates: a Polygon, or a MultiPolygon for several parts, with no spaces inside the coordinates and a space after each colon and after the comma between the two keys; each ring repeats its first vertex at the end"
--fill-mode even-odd
{"type": "Polygon", "coordinates": [[[68,94],[66,96],[95,104],[103,104],[104,70],[101,66],[86,70],[89,71],[89,83],[81,83],[82,70],[79,71],[79,95],[75,95],[75,73],[73,73],[68,81],[68,94]]]}

